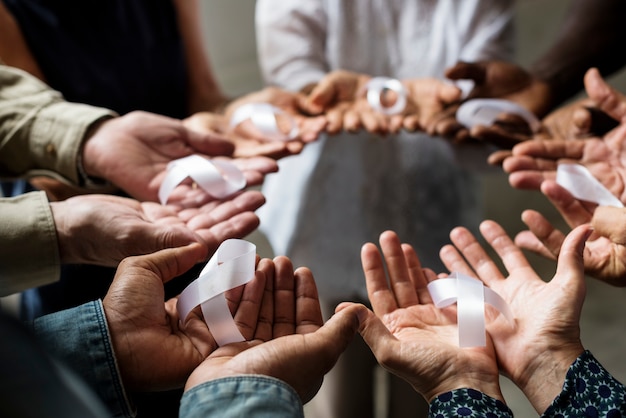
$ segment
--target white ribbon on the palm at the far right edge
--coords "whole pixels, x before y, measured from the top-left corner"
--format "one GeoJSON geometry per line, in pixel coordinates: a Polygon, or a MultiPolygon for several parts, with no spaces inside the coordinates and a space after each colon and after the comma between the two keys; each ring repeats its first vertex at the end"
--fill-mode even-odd
{"type": "Polygon", "coordinates": [[[600,206],[624,207],[624,204],[583,165],[559,164],[556,169],[556,182],[576,199],[597,203],[600,206]]]}

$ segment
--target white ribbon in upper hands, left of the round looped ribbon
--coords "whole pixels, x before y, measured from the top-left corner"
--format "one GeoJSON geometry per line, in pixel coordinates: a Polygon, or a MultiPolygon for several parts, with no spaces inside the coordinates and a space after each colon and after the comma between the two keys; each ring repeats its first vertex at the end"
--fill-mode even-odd
{"type": "Polygon", "coordinates": [[[230,127],[235,128],[248,119],[263,137],[271,141],[290,141],[300,133],[298,124],[291,115],[269,103],[247,103],[239,106],[230,118],[230,127]],[[278,128],[278,115],[287,118],[291,125],[287,134],[278,128]]]}

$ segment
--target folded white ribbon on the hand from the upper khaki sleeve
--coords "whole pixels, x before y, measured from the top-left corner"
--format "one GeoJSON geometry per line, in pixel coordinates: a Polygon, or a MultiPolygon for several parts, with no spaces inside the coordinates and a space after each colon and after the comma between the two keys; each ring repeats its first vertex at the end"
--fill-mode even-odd
{"type": "Polygon", "coordinates": [[[228,197],[246,185],[243,173],[234,164],[190,155],[167,165],[167,175],[159,188],[159,201],[162,205],[167,203],[176,186],[187,177],[218,199],[228,197]]]}

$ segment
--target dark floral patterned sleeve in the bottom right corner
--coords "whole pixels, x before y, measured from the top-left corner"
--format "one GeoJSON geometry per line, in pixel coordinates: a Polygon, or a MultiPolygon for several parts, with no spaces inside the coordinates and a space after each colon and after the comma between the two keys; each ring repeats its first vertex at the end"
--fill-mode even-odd
{"type": "Polygon", "coordinates": [[[585,351],[570,366],[563,391],[542,417],[624,417],[626,387],[585,351]]]}

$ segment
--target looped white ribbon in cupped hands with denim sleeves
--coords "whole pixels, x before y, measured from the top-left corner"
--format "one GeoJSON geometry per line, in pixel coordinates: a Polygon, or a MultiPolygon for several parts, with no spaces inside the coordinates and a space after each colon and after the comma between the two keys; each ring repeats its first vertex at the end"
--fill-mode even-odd
{"type": "Polygon", "coordinates": [[[245,341],[230,314],[224,292],[254,278],[256,246],[241,239],[229,239],[180,294],[176,309],[184,323],[187,315],[201,305],[202,315],[218,345],[245,341]]]}

